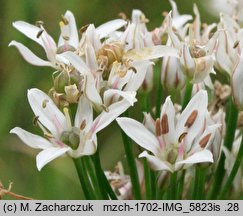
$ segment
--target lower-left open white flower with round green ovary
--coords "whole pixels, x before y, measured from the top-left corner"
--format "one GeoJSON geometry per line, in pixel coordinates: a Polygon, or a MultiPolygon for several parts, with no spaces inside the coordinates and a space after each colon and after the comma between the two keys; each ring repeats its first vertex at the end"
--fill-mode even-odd
{"type": "MultiPolygon", "coordinates": [[[[110,93],[107,91],[105,94],[110,93]]],[[[41,90],[30,89],[28,100],[36,116],[35,122],[42,129],[44,138],[19,127],[13,128],[10,133],[17,134],[26,145],[42,149],[36,157],[38,170],[65,154],[75,158],[94,154],[97,148],[96,133],[136,101],[133,94],[132,101],[123,99],[114,103],[93,120],[92,106],[84,96],[81,96],[72,125],[68,109],[64,108],[62,113],[51,98],[41,90]]]]}

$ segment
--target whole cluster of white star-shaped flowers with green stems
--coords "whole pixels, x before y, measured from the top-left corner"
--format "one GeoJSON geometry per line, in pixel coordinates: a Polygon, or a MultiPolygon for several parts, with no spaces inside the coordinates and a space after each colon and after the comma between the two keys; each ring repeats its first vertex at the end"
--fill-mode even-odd
{"type": "Polygon", "coordinates": [[[86,199],[238,198],[243,191],[237,3],[229,1],[234,10],[208,25],[196,5],[193,17],[169,2],[172,11],[153,30],[140,10],[132,11],[131,20],[123,14],[79,31],[67,11],[57,42],[43,22],[13,23],[43,47],[46,58],[19,42],[9,45],[28,63],[50,67],[53,85],[46,93],[27,93],[41,135],[19,127],[10,132],[41,150],[39,171],[60,156],[73,158],[86,199]],[[129,112],[134,103],[136,112],[145,111],[143,123],[129,112]],[[115,119],[128,169],[119,162],[104,172],[97,133],[115,119]]]}

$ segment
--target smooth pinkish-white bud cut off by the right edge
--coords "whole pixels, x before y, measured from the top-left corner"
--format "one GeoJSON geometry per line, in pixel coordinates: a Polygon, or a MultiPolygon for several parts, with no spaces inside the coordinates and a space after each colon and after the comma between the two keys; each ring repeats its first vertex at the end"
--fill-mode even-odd
{"type": "Polygon", "coordinates": [[[243,108],[243,57],[241,56],[232,75],[231,85],[235,104],[243,108]]]}

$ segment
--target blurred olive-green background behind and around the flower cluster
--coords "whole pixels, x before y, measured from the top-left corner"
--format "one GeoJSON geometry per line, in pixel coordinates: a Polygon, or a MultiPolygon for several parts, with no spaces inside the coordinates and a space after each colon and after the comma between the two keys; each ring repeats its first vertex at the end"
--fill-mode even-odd
{"type": "MultiPolygon", "coordinates": [[[[191,13],[197,3],[203,22],[212,19],[200,3],[207,1],[177,0],[181,13],[191,13]]],[[[50,35],[57,41],[58,22],[66,10],[71,10],[77,27],[88,23],[96,26],[117,18],[119,12],[128,17],[132,9],[141,9],[150,20],[152,30],[162,22],[162,12],[169,11],[168,0],[112,1],[112,0],[3,0],[0,7],[0,181],[5,187],[14,183],[13,191],[35,199],[82,198],[78,177],[70,158],[58,158],[38,172],[35,155],[38,151],[24,145],[9,130],[20,126],[37,132],[32,125],[33,113],[26,93],[32,87],[48,91],[51,88],[52,69],[35,67],[23,60],[18,51],[8,47],[11,40],[24,43],[38,56],[45,58],[43,50],[12,27],[12,22],[24,20],[35,23],[42,20],[50,35]]],[[[120,132],[113,123],[101,133],[101,160],[105,169],[112,169],[124,158],[120,132]]],[[[10,197],[4,197],[10,198],[10,197]]]]}

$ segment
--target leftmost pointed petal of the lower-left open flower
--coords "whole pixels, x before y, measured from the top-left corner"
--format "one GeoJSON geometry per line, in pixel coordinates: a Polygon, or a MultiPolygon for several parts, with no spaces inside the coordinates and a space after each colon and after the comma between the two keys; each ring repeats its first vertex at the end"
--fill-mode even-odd
{"type": "Polygon", "coordinates": [[[35,149],[46,149],[52,146],[52,144],[43,137],[32,134],[19,127],[13,128],[10,133],[16,134],[26,145],[35,149]]]}

